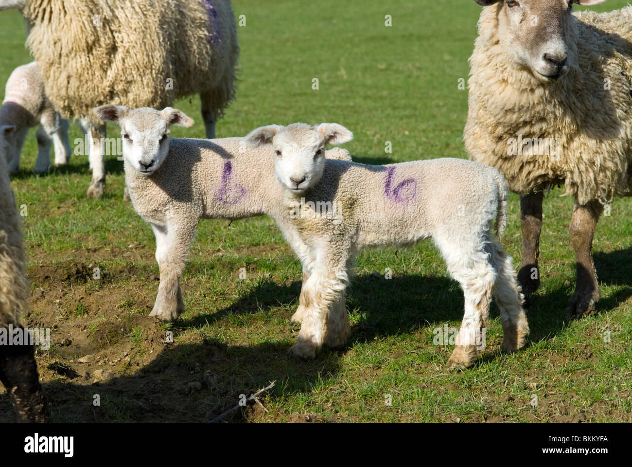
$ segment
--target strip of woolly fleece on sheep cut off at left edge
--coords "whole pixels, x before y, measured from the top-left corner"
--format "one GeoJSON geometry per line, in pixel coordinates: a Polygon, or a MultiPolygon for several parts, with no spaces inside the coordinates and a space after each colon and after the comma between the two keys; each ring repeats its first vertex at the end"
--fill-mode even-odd
{"type": "Polygon", "coordinates": [[[18,325],[27,308],[27,263],[22,246],[20,216],[9,184],[5,162],[6,141],[0,135],[0,327],[18,325]]]}

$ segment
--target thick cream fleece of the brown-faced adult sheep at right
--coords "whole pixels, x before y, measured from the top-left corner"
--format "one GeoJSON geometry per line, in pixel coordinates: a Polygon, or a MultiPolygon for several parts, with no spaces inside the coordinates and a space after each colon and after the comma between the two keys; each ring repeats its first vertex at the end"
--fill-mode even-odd
{"type": "Polygon", "coordinates": [[[470,58],[464,131],[470,158],[494,166],[525,195],[566,185],[580,204],[632,190],[632,6],[574,13],[567,76],[542,83],[499,46],[501,3],[483,8],[470,58]],[[609,89],[604,89],[609,88],[609,89]],[[557,157],[510,155],[509,140],[550,138],[557,157]]]}

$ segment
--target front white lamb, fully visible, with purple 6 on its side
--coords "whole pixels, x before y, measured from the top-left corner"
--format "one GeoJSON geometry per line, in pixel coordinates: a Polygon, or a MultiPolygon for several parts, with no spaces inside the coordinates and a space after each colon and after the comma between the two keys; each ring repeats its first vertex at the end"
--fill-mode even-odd
{"type": "Polygon", "coordinates": [[[274,173],[283,189],[278,202],[289,218],[284,234],[303,242],[295,251],[307,280],[304,307],[293,316],[302,324],[291,353],[312,358],[324,343],[344,344],[349,330],[344,290],[360,249],[408,246],[427,238],[434,240],[465,294],[450,368],[471,366],[477,358],[492,292],[501,310],[502,349],[523,347],[528,324],[520,287],[511,257],[491,232],[494,218],[498,234],[505,227],[502,175],[463,159],[374,166],[322,157],[327,144],[352,138],[336,123],[270,125],[246,135],[248,146],[274,149],[274,173]]]}

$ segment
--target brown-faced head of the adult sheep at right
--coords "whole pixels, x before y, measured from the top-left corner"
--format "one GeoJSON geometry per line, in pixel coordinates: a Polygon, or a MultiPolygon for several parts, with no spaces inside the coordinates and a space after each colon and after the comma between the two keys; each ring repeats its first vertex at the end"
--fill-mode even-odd
{"type": "Polygon", "coordinates": [[[573,3],[595,5],[605,0],[475,0],[498,8],[498,35],[510,59],[543,82],[568,73],[570,32],[574,27],[573,3]]]}

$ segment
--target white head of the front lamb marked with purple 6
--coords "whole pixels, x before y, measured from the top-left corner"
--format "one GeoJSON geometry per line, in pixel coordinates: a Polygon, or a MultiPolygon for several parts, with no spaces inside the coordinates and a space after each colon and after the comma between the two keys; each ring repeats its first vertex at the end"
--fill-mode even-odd
{"type": "Polygon", "coordinates": [[[292,123],[287,127],[269,125],[253,130],[245,138],[248,147],[271,144],[274,172],[289,192],[301,194],[317,184],[325,166],[325,146],[343,144],[353,134],[337,123],[292,123]]]}

